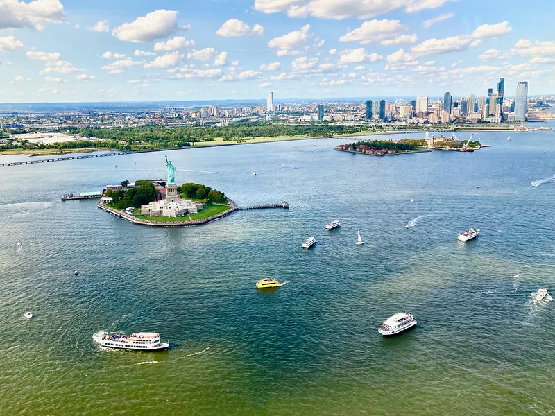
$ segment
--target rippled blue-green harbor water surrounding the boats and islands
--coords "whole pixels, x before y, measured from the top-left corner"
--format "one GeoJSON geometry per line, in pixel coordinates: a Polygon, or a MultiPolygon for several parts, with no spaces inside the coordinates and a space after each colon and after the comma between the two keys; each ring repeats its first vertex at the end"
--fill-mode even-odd
{"type": "Polygon", "coordinates": [[[554,414],[555,302],[531,293],[555,293],[555,133],[510,135],[475,134],[491,147],[474,153],[315,139],[0,168],[1,412],[554,414]],[[289,209],[151,228],[60,201],[162,178],[164,155],[178,184],[289,209]],[[257,291],[264,277],[289,282],[257,291]],[[399,311],[418,326],[380,336],[399,311]],[[100,330],[170,349],[103,350],[100,330]]]}

